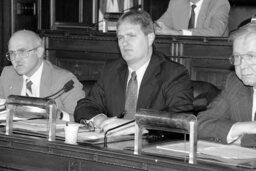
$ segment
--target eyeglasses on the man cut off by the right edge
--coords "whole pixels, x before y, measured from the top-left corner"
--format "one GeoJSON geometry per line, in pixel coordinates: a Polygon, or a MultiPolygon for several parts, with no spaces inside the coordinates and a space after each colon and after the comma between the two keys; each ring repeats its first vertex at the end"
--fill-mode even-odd
{"type": "Polygon", "coordinates": [[[249,64],[256,64],[256,55],[244,54],[244,55],[232,55],[229,57],[229,61],[232,65],[241,65],[241,60],[244,59],[249,64]]]}

